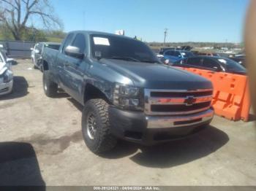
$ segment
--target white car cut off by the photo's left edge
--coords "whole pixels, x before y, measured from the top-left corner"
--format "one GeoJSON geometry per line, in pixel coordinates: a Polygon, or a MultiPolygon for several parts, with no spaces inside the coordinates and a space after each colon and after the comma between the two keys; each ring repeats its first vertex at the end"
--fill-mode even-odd
{"type": "Polygon", "coordinates": [[[12,65],[7,62],[5,53],[0,51],[0,95],[12,92],[12,65]]]}

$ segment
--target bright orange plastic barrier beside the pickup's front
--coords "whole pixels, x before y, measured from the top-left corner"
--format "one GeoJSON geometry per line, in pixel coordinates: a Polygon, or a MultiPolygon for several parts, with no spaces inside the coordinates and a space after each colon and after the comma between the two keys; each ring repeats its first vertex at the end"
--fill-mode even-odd
{"type": "Polygon", "coordinates": [[[229,120],[249,120],[251,106],[248,77],[203,69],[181,68],[211,80],[214,86],[212,106],[215,114],[229,120]]]}

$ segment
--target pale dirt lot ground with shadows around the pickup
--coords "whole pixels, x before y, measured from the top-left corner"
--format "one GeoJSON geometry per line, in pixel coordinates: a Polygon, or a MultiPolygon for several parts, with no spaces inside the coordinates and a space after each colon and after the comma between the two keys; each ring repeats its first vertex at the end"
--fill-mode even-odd
{"type": "Polygon", "coordinates": [[[0,185],[256,185],[253,117],[214,117],[188,139],[155,147],[120,142],[99,157],[83,142],[81,106],[65,93],[46,97],[31,61],[12,69],[13,93],[0,98],[0,185]]]}

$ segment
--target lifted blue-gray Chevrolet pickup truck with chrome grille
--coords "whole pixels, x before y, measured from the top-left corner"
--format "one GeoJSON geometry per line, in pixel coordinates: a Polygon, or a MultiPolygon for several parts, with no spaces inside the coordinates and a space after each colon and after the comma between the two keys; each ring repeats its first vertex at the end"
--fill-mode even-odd
{"type": "Polygon", "coordinates": [[[61,87],[84,106],[83,138],[94,153],[113,149],[118,139],[145,145],[180,139],[214,115],[211,82],[161,64],[135,39],[73,31],[42,59],[45,94],[54,97],[61,87]]]}

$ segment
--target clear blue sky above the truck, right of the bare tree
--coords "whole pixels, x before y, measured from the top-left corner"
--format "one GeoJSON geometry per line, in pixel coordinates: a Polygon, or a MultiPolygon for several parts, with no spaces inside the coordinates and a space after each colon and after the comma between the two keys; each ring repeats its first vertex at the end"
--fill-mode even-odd
{"type": "Polygon", "coordinates": [[[114,33],[146,42],[242,42],[249,0],[52,0],[64,31],[114,33]]]}

